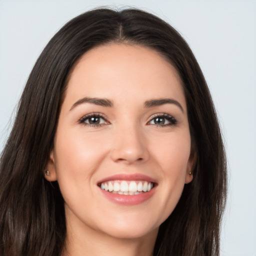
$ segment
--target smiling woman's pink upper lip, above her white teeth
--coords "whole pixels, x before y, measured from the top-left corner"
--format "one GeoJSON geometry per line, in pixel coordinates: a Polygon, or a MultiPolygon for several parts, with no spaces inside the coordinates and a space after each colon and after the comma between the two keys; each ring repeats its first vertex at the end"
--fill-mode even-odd
{"type": "Polygon", "coordinates": [[[99,180],[97,183],[102,183],[109,180],[145,180],[148,182],[156,183],[156,180],[154,178],[144,174],[140,174],[140,173],[133,173],[133,174],[119,173],[119,174],[105,177],[99,180]]]}

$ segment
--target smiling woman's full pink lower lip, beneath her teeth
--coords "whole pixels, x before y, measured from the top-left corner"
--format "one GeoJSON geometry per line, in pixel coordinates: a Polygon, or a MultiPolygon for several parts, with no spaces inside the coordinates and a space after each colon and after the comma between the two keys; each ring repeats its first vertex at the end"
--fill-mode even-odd
{"type": "Polygon", "coordinates": [[[123,205],[135,205],[142,203],[152,197],[155,187],[153,187],[150,191],[143,192],[140,194],[134,195],[124,195],[124,194],[115,194],[111,192],[107,192],[101,188],[99,188],[103,195],[110,201],[123,204],[123,205]]]}

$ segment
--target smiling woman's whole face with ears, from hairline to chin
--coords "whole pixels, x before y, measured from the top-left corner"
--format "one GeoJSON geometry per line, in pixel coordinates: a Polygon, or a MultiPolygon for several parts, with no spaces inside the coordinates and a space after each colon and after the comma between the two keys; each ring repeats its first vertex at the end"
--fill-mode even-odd
{"type": "Polygon", "coordinates": [[[50,153],[72,230],[157,233],[192,180],[185,97],[156,51],[109,44],[86,52],[67,83],[50,153]]]}

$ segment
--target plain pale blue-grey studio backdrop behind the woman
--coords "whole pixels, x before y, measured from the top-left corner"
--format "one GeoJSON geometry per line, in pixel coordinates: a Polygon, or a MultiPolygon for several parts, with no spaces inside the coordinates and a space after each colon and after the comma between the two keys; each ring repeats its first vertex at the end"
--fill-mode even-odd
{"type": "Polygon", "coordinates": [[[97,6],[140,7],[174,26],[208,82],[229,189],[221,256],[256,256],[256,0],[0,0],[0,151],[28,74],[52,35],[97,6]]]}

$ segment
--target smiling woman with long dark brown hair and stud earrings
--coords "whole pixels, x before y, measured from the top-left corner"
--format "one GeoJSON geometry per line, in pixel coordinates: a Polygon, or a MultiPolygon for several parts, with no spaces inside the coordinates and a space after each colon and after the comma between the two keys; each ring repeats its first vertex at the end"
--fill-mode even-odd
{"type": "Polygon", "coordinates": [[[65,24],[0,162],[1,255],[218,255],[226,165],[186,42],[137,9],[65,24]]]}

